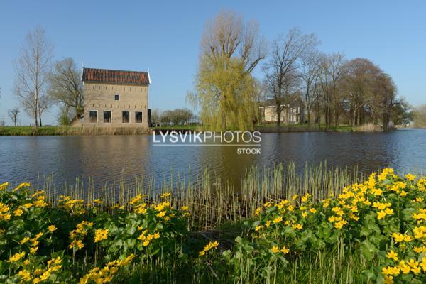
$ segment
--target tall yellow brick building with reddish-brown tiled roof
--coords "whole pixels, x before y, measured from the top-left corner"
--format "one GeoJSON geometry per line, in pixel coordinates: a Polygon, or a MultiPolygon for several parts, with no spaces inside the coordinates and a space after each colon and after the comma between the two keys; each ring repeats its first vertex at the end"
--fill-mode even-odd
{"type": "Polygon", "coordinates": [[[83,68],[83,126],[148,129],[149,72],[83,68]]]}

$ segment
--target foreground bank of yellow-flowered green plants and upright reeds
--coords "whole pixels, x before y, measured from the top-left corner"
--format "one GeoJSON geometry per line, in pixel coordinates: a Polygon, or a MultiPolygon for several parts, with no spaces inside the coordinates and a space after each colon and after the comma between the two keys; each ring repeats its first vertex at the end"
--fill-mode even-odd
{"type": "Polygon", "coordinates": [[[295,175],[290,165],[253,168],[241,192],[170,185],[107,194],[2,184],[2,282],[426,280],[425,178],[323,167],[295,175]]]}

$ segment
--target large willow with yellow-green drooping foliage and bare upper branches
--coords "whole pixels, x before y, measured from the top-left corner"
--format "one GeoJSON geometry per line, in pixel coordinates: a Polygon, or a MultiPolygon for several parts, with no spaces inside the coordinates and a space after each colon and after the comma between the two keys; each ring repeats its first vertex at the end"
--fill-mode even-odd
{"type": "Polygon", "coordinates": [[[221,11],[202,35],[195,92],[187,99],[200,107],[202,123],[213,130],[248,129],[258,120],[256,82],[251,75],[265,56],[254,21],[221,11]]]}

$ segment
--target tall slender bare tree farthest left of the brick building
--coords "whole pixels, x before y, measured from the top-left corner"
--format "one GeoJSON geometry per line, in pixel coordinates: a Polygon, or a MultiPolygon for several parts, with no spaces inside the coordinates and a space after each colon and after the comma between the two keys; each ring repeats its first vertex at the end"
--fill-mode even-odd
{"type": "Polygon", "coordinates": [[[45,29],[38,26],[26,35],[26,43],[21,48],[21,55],[15,62],[16,96],[21,100],[23,109],[34,118],[34,129],[37,129],[40,96],[45,92],[53,56],[53,45],[45,37],[45,29]]]}

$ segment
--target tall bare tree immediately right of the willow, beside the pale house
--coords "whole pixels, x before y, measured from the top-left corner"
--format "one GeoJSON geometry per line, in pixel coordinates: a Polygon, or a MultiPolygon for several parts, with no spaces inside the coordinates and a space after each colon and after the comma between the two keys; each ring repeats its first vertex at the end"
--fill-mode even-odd
{"type": "Polygon", "coordinates": [[[281,124],[281,111],[286,106],[283,104],[285,96],[290,95],[290,90],[300,80],[300,68],[304,66],[302,57],[312,53],[319,44],[315,34],[302,34],[297,28],[273,41],[270,59],[263,66],[263,72],[275,101],[278,126],[281,124]]]}

